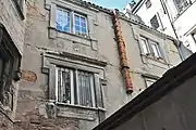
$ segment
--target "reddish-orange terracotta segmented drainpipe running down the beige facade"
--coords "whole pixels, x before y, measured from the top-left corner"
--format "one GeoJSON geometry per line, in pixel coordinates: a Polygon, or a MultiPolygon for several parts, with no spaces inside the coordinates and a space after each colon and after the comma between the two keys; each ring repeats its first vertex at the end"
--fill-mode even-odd
{"type": "Polygon", "coordinates": [[[124,78],[126,93],[131,94],[133,92],[133,82],[131,78],[130,66],[127,64],[126,47],[122,36],[122,29],[120,25],[119,11],[113,11],[113,25],[114,34],[118,42],[118,50],[120,56],[121,73],[124,78]]]}

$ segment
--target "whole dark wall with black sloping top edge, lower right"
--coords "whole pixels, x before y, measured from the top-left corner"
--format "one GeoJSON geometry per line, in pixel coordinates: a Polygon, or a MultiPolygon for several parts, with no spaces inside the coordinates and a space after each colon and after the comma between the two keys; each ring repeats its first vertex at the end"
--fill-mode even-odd
{"type": "Polygon", "coordinates": [[[94,130],[195,130],[196,54],[176,67],[94,130]]]}

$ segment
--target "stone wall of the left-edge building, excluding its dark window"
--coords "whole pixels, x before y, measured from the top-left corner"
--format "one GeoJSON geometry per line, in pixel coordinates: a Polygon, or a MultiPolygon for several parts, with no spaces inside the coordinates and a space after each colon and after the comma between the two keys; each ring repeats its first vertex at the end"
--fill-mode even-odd
{"type": "MultiPolygon", "coordinates": [[[[25,4],[24,4],[25,8],[25,4]]],[[[24,13],[24,12],[23,12],[24,13]]],[[[25,15],[25,13],[24,13],[25,15]]],[[[0,24],[2,24],[9,32],[14,46],[23,55],[24,27],[25,21],[21,18],[12,0],[0,0],[0,24]]],[[[19,82],[13,81],[13,110],[0,106],[0,129],[12,130],[15,116],[16,99],[19,82]],[[1,109],[2,108],[2,109],[1,109]]],[[[11,99],[10,99],[11,100],[11,99]]]]}

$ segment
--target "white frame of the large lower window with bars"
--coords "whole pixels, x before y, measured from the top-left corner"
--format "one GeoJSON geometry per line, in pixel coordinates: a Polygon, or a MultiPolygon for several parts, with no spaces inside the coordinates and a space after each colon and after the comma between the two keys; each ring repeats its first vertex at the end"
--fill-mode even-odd
{"type": "MultiPolygon", "coordinates": [[[[62,77],[61,77],[62,78],[62,77]]],[[[84,106],[84,107],[90,107],[95,108],[96,107],[96,94],[95,94],[95,76],[94,73],[87,72],[87,70],[81,70],[81,69],[75,69],[66,66],[56,66],[56,100],[57,103],[60,104],[68,104],[68,105],[75,105],[75,106],[84,106]],[[58,86],[58,69],[70,69],[70,77],[71,77],[71,83],[70,83],[70,103],[63,103],[59,101],[59,86],[58,86]],[[79,87],[78,87],[78,72],[85,72],[91,74],[90,77],[90,96],[91,96],[91,106],[86,106],[81,104],[81,92],[79,92],[79,87]]]]}

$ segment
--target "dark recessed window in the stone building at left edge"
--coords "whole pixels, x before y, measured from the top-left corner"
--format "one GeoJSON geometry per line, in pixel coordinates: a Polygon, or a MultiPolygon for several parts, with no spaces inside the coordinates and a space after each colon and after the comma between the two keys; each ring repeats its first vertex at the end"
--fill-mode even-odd
{"type": "Polygon", "coordinates": [[[12,80],[17,81],[21,55],[14,47],[8,31],[0,24],[0,102],[3,106],[13,106],[12,80]]]}

